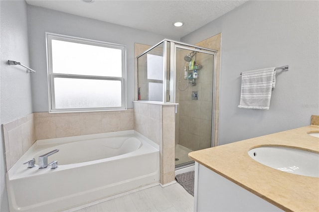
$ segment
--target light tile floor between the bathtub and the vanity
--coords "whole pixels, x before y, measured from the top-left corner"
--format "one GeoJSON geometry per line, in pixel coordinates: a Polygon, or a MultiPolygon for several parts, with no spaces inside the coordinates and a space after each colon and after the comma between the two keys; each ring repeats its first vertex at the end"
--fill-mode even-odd
{"type": "Polygon", "coordinates": [[[76,212],[192,212],[194,198],[178,183],[128,194],[76,212]]]}

